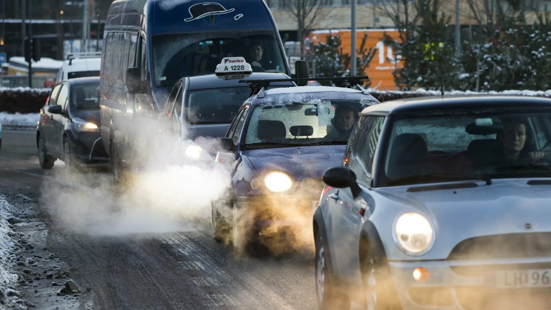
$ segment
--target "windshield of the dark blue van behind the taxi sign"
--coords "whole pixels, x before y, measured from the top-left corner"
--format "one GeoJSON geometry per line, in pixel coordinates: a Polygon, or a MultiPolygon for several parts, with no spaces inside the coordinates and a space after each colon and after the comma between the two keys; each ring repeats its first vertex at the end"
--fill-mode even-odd
{"type": "Polygon", "coordinates": [[[218,31],[154,35],[156,87],[170,87],[181,77],[212,74],[224,57],[245,57],[256,72],[286,72],[273,31],[218,31]]]}

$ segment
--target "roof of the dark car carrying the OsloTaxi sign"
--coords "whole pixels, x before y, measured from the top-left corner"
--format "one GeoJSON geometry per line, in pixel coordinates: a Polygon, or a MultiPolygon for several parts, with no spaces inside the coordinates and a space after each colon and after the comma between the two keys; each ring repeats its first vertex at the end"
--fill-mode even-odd
{"type": "MultiPolygon", "coordinates": [[[[187,77],[190,79],[189,90],[209,89],[220,87],[247,87],[245,83],[239,83],[242,79],[283,79],[289,78],[287,74],[279,72],[253,72],[252,74],[204,74],[202,76],[187,77]]],[[[293,82],[271,83],[276,86],[294,86],[293,82]]]]}

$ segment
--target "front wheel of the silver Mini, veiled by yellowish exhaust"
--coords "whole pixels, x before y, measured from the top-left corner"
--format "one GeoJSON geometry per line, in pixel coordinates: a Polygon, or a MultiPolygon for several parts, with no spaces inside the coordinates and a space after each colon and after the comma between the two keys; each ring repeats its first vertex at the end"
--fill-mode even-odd
{"type": "Polygon", "coordinates": [[[386,258],[368,254],[365,261],[364,287],[367,310],[401,309],[386,258]]]}

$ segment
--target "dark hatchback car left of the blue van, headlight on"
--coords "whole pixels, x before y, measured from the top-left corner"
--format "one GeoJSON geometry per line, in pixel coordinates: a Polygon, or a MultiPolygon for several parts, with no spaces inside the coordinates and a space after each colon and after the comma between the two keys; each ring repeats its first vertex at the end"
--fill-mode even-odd
{"type": "Polygon", "coordinates": [[[57,84],[40,109],[36,146],[40,167],[62,159],[68,167],[109,164],[100,133],[99,77],[57,84]]]}

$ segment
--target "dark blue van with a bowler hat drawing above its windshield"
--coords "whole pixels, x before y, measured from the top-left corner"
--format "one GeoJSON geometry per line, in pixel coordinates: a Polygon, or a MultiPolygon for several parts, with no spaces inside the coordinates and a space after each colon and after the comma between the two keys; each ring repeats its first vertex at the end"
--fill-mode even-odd
{"type": "Polygon", "coordinates": [[[136,127],[156,119],[180,78],[214,73],[224,57],[291,75],[263,0],[117,0],[101,57],[101,134],[111,164],[136,155],[136,127]],[[116,162],[114,162],[116,161],[116,162]]]}

